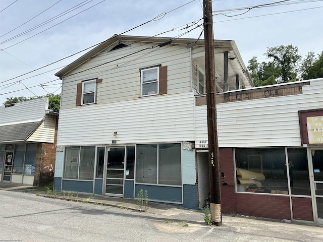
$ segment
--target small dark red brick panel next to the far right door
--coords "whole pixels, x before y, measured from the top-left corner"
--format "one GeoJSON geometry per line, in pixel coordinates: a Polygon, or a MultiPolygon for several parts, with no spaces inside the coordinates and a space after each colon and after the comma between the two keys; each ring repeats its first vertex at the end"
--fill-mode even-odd
{"type": "Polygon", "coordinates": [[[313,221],[312,200],[310,198],[292,198],[293,219],[313,221]]]}

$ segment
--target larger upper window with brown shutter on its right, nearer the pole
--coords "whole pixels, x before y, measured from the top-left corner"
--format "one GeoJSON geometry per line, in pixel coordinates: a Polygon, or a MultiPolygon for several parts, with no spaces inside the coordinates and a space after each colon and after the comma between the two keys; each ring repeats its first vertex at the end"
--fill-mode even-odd
{"type": "Polygon", "coordinates": [[[167,93],[167,66],[140,70],[140,96],[167,93]]]}

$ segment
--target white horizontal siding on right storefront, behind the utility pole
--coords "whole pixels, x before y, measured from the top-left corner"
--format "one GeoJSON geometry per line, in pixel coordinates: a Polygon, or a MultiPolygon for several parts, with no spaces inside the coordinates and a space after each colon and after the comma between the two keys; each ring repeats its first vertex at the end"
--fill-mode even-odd
{"type": "MultiPolygon", "coordinates": [[[[299,110],[323,108],[322,79],[303,87],[303,94],[220,103],[220,147],[300,146],[299,110]]],[[[206,106],[196,106],[196,147],[207,141],[206,106]]]]}

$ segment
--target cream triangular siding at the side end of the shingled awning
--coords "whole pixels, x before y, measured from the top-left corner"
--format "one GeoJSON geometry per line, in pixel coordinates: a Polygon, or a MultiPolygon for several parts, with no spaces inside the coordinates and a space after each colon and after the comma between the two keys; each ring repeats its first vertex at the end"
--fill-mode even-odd
{"type": "Polygon", "coordinates": [[[47,116],[27,141],[53,143],[55,138],[55,119],[56,117],[47,116]]]}

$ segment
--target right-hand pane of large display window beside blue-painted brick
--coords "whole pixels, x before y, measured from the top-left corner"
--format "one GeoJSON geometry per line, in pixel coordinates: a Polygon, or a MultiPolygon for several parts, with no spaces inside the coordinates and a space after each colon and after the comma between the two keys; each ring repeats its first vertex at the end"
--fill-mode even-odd
{"type": "Polygon", "coordinates": [[[158,184],[181,185],[181,145],[159,144],[158,184]]]}

